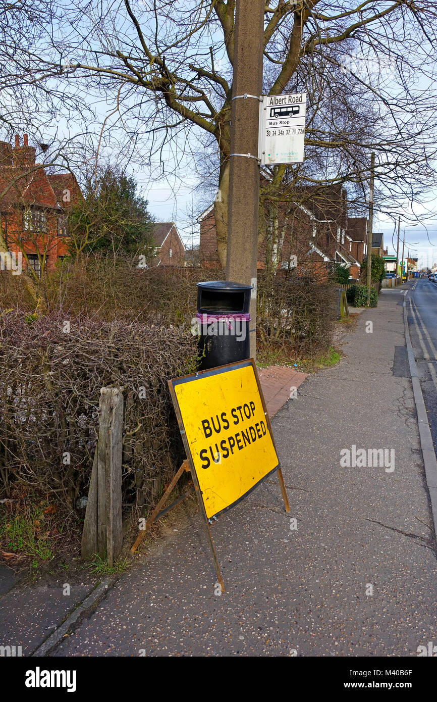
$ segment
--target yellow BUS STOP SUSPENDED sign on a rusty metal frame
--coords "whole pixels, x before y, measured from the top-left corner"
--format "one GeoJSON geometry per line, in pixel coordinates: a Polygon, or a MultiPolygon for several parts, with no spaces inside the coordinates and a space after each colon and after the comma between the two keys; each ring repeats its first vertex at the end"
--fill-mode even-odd
{"type": "MultiPolygon", "coordinates": [[[[288,512],[278,454],[253,359],[175,378],[168,385],[209,540],[209,524],[276,470],[288,512]]],[[[211,540],[210,547],[218,575],[211,540]]]]}

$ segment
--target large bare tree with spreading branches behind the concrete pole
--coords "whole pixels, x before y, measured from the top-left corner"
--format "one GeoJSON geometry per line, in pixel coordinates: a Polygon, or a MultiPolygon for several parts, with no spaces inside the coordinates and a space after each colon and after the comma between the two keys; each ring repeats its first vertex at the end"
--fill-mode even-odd
{"type": "MultiPolygon", "coordinates": [[[[217,244],[227,242],[230,102],[234,63],[234,0],[73,0],[55,13],[33,48],[23,48],[34,81],[51,95],[105,95],[112,109],[100,143],[121,128],[124,154],[144,163],[169,150],[193,158],[195,140],[217,154],[220,198],[215,200],[217,244]],[[62,37],[59,39],[59,37],[62,37]],[[39,76],[39,77],[37,77],[39,76]],[[203,138],[203,135],[205,138],[203,138]]],[[[271,168],[264,194],[285,187],[353,184],[365,201],[368,154],[386,211],[415,201],[434,183],[429,147],[436,135],[436,9],[433,0],[280,0],[266,6],[265,89],[307,91],[308,163],[271,168]]]]}

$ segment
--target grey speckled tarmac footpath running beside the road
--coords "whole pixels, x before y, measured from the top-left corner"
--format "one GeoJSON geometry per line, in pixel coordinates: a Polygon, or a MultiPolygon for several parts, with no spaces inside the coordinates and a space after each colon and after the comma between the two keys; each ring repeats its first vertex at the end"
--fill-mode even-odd
{"type": "Polygon", "coordinates": [[[394,374],[402,301],[384,291],[358,316],[342,361],[274,417],[291,512],[274,477],[213,524],[227,591],[215,594],[201,517],[187,505],[182,528],[138,556],[53,656],[415,656],[437,644],[412,384],[394,374]],[[394,471],[341,467],[352,446],[394,449],[394,471]]]}

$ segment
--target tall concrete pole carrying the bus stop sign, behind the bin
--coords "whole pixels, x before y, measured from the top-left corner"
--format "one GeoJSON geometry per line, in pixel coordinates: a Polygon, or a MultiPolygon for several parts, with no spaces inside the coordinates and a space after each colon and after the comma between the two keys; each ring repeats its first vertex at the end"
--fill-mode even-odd
{"type": "Polygon", "coordinates": [[[226,277],[253,286],[250,356],[255,358],[260,167],[258,120],[262,93],[264,0],[236,0],[226,277]],[[247,95],[247,97],[243,97],[247,95]]]}

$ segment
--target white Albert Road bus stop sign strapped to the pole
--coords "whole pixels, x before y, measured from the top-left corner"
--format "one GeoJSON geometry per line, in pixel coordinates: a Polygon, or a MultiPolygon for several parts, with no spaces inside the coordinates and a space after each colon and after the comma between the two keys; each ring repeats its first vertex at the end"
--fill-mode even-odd
{"type": "Polygon", "coordinates": [[[262,165],[302,163],[306,107],[307,93],[262,96],[258,137],[262,165]]]}

